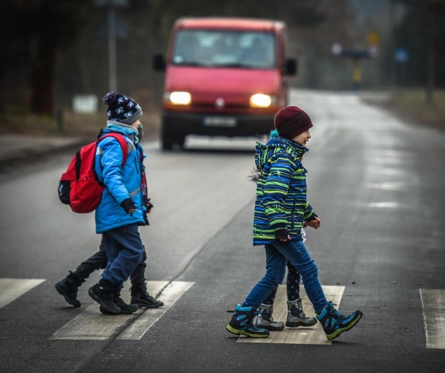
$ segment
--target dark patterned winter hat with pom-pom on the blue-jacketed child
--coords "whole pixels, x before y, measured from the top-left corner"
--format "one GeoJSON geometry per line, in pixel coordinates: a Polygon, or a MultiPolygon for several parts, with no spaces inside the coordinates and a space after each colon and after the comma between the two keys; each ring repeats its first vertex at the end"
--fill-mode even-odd
{"type": "Polygon", "coordinates": [[[108,105],[108,120],[131,124],[142,117],[139,104],[124,94],[108,92],[104,96],[104,103],[108,105]]]}

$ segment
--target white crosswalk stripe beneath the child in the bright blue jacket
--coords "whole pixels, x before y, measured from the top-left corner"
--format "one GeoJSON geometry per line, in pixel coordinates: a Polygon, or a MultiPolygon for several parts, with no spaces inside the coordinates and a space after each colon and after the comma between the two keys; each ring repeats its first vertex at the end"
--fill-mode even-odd
{"type": "MultiPolygon", "coordinates": [[[[150,294],[156,295],[167,284],[168,281],[147,281],[147,288],[150,294]]],[[[173,281],[159,297],[164,302],[162,308],[139,309],[131,315],[102,315],[99,305],[94,304],[67,322],[49,339],[107,340],[115,336],[119,340],[138,340],[192,285],[193,282],[173,281]]],[[[122,291],[121,297],[129,303],[128,291],[122,291]]]]}

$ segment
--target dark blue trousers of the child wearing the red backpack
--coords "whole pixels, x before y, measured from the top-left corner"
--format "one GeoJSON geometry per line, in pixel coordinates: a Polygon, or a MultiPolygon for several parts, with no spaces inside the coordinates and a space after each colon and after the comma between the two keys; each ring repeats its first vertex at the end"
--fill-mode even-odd
{"type": "Polygon", "coordinates": [[[102,273],[102,279],[111,283],[127,281],[138,265],[140,265],[144,246],[137,224],[120,226],[103,233],[108,263],[102,273]]]}

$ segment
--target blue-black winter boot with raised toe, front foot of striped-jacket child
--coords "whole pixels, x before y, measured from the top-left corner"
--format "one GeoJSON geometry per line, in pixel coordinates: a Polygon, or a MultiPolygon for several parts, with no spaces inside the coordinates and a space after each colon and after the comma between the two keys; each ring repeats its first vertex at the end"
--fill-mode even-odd
{"type": "Polygon", "coordinates": [[[350,315],[343,315],[334,308],[332,301],[330,301],[329,304],[321,310],[321,313],[316,315],[316,317],[321,326],[323,326],[326,338],[328,340],[333,340],[343,333],[343,331],[348,331],[357,324],[362,315],[363,313],[361,310],[356,310],[350,315]]]}

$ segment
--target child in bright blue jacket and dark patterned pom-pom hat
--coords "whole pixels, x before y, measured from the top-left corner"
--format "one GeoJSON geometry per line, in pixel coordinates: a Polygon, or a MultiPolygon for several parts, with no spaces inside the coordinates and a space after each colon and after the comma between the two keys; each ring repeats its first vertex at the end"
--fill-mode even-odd
{"type": "Polygon", "coordinates": [[[95,172],[105,185],[102,200],[95,212],[96,233],[102,233],[108,263],[102,279],[88,294],[100,304],[104,313],[131,313],[136,304],[120,298],[124,281],[143,260],[144,246],[138,226],[147,224],[147,190],[140,140],[142,109],[131,97],[108,92],[108,122],[102,135],[119,133],[127,141],[128,154],[122,166],[122,147],[112,137],[97,144],[95,172]]]}

